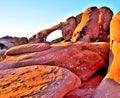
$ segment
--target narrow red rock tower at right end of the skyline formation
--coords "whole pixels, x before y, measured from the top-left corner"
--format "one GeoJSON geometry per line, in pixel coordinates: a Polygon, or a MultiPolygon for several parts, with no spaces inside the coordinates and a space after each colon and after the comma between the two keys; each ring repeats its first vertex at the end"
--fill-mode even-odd
{"type": "Polygon", "coordinates": [[[113,12],[108,7],[101,7],[99,9],[99,41],[108,41],[109,30],[110,30],[110,21],[113,16],[113,12]]]}

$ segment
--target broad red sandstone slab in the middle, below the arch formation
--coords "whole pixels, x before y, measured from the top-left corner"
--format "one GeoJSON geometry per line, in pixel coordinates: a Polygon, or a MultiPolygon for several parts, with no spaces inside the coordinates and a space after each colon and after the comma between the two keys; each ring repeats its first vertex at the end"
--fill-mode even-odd
{"type": "Polygon", "coordinates": [[[107,66],[108,51],[109,43],[71,43],[67,46],[54,46],[42,52],[7,56],[0,62],[0,69],[35,64],[56,65],[68,68],[86,81],[98,70],[107,66]]]}

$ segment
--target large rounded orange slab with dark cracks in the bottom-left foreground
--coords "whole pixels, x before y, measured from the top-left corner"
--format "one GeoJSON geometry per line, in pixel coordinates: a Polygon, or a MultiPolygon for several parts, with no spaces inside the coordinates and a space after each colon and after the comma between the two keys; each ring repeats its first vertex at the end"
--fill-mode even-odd
{"type": "Polygon", "coordinates": [[[63,98],[80,84],[75,74],[55,66],[34,65],[0,71],[1,98],[63,98]]]}

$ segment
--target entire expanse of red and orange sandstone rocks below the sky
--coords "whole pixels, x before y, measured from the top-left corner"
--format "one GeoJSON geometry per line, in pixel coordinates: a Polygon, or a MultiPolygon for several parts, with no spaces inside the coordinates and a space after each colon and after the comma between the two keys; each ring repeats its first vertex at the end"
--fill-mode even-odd
{"type": "Polygon", "coordinates": [[[0,97],[119,98],[120,12],[112,16],[90,7],[29,40],[0,38],[0,97]],[[57,30],[62,36],[47,42],[57,30]]]}

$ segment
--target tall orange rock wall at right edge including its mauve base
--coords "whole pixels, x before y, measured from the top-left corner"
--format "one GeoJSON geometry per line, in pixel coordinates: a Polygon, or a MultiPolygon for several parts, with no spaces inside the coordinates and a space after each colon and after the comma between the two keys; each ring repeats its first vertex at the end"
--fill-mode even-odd
{"type": "Polygon", "coordinates": [[[120,97],[120,12],[114,16],[110,24],[110,43],[114,59],[109,72],[95,90],[93,98],[120,97]]]}

